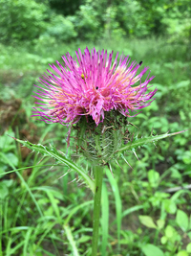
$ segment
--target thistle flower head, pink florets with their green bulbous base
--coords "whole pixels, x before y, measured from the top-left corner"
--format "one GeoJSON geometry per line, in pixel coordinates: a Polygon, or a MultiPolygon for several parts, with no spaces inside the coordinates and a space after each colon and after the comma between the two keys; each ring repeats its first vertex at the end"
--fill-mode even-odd
{"type": "MultiPolygon", "coordinates": [[[[40,90],[34,97],[43,103],[37,103],[33,116],[74,126],[77,149],[96,164],[107,163],[122,142],[128,142],[125,127],[131,111],[154,101],[157,89],[148,91],[154,77],[141,81],[148,67],[137,74],[142,61],[129,64],[130,59],[122,55],[117,62],[118,53],[114,63],[113,52],[86,48],[84,54],[80,49],[75,54],[76,58],[69,53],[63,56],[64,65],[50,64],[55,74],[47,70],[51,75],[39,79],[43,87],[37,86],[40,90]]],[[[68,146],[70,132],[71,128],[68,146]]]]}

